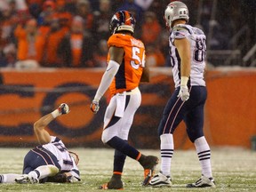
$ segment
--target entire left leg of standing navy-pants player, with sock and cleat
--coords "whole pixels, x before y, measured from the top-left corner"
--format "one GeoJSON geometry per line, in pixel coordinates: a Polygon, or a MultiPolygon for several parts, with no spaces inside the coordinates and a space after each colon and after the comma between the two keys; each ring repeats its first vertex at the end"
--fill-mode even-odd
{"type": "Polygon", "coordinates": [[[158,126],[161,140],[161,168],[160,172],[149,182],[149,185],[153,187],[170,187],[172,185],[171,165],[174,152],[172,133],[182,121],[187,108],[186,103],[177,98],[178,93],[179,90],[175,90],[170,100],[168,100],[158,126]]]}

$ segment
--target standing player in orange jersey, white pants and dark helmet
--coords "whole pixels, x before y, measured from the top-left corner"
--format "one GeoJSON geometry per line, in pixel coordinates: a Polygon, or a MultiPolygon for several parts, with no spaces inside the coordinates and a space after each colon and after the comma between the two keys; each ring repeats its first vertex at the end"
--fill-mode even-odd
{"type": "Polygon", "coordinates": [[[108,39],[108,67],[91,105],[92,112],[97,113],[100,99],[109,88],[112,97],[104,116],[101,140],[115,148],[115,156],[112,178],[107,184],[100,186],[102,189],[123,188],[121,176],[126,156],[142,165],[145,182],[148,182],[148,177],[152,176],[158,163],[156,156],[144,156],[127,142],[133,116],[141,102],[138,86],[140,82],[149,81],[145,47],[132,36],[134,27],[135,18],[131,12],[116,12],[110,20],[112,36],[108,39]]]}

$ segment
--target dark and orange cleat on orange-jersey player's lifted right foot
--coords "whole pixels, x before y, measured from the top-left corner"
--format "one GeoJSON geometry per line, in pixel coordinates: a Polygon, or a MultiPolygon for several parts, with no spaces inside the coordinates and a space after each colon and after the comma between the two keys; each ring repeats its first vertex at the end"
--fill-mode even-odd
{"type": "Polygon", "coordinates": [[[156,164],[159,159],[157,156],[146,156],[145,160],[141,163],[144,168],[144,180],[142,186],[147,186],[148,182],[152,179],[155,173],[156,164]]]}

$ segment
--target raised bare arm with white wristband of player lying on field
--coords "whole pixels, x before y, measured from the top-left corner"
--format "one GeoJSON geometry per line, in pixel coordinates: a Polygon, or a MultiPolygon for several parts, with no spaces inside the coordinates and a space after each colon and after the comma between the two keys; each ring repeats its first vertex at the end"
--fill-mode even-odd
{"type": "Polygon", "coordinates": [[[49,132],[47,132],[44,128],[52,122],[54,118],[57,116],[61,116],[62,114],[68,114],[69,108],[66,103],[60,104],[59,108],[52,111],[52,113],[42,116],[39,120],[34,124],[34,132],[36,134],[36,138],[41,145],[51,142],[51,136],[49,132]]]}

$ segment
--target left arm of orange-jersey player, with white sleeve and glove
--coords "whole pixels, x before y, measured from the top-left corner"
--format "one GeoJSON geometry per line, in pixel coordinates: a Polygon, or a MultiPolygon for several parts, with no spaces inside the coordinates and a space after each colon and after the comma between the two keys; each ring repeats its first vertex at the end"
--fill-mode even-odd
{"type": "Polygon", "coordinates": [[[101,97],[107,92],[109,85],[113,81],[120,64],[124,58],[124,49],[116,46],[111,46],[109,48],[110,60],[108,62],[108,67],[106,68],[101,81],[100,86],[92,100],[91,110],[93,113],[97,113],[99,110],[99,102],[101,97]]]}

